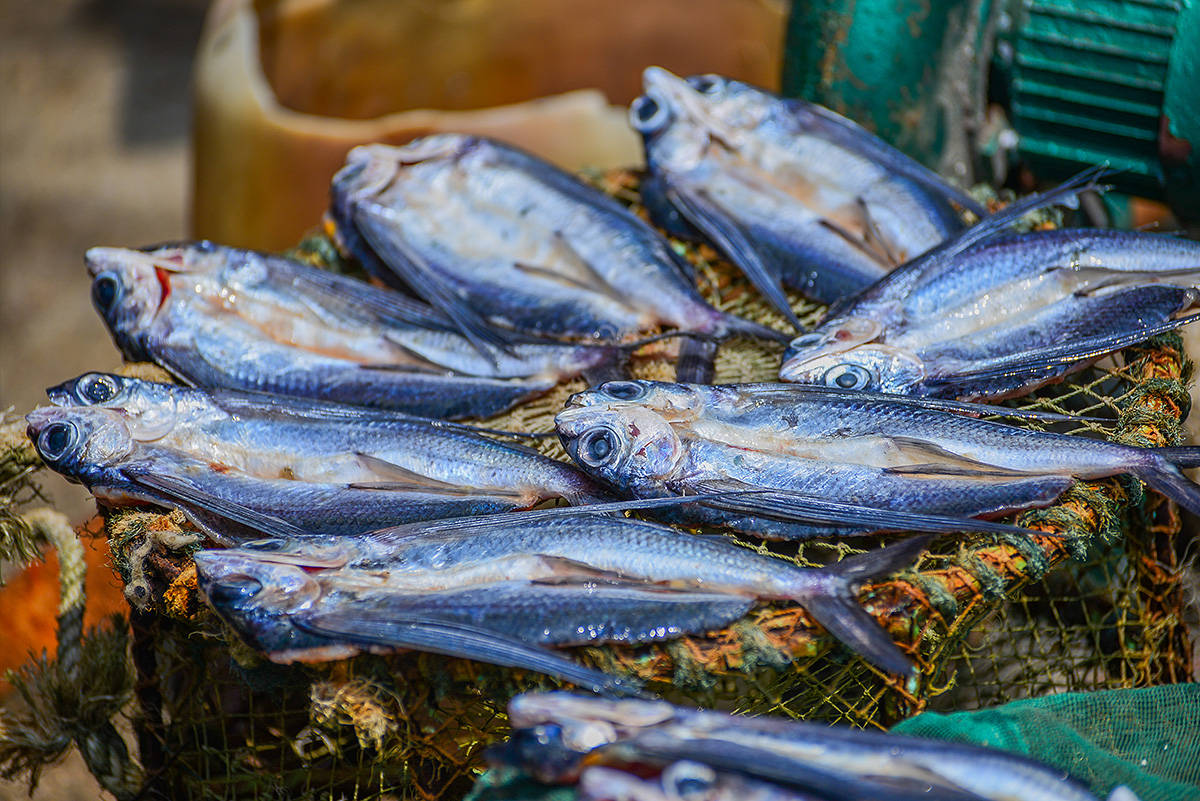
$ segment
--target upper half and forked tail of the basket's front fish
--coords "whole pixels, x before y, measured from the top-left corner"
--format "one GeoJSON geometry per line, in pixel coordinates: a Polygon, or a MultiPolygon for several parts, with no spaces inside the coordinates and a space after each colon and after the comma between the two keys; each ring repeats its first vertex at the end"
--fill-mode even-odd
{"type": "Polygon", "coordinates": [[[488,514],[414,523],[353,537],[268,538],[241,546],[257,559],[370,572],[389,586],[444,590],[505,578],[551,580],[587,568],[674,589],[796,601],[830,634],[881,669],[912,661],[857,602],[868,578],[910,565],[928,538],[907,540],[820,570],[764,556],[722,537],[589,511],[488,514]]]}

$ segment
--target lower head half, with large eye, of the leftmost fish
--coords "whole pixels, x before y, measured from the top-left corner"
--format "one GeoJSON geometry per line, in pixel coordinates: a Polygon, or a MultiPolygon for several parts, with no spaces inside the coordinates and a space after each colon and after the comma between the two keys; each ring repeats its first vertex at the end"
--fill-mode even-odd
{"type": "Polygon", "coordinates": [[[42,460],[89,487],[103,482],[136,447],[125,421],[108,409],[42,406],[29,412],[25,422],[42,460]]]}

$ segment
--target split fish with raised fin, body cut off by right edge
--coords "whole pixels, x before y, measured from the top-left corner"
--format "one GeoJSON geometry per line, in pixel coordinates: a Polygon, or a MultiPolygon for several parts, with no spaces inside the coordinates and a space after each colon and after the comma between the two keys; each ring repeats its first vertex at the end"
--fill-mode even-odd
{"type": "Polygon", "coordinates": [[[1145,231],[1014,234],[1016,204],[910,261],[792,341],[785,381],[962,399],[1027,395],[1200,319],[1200,242],[1145,231]],[[986,229],[991,229],[988,233],[986,229]]]}

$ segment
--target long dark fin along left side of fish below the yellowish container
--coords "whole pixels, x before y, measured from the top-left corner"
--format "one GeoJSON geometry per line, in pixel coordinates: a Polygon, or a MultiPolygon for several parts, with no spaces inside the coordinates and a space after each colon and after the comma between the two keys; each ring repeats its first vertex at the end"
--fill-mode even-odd
{"type": "Polygon", "coordinates": [[[460,297],[426,261],[388,229],[388,207],[368,200],[359,201],[355,221],[376,253],[398,272],[406,283],[445,312],[480,355],[494,361],[490,348],[510,353],[509,337],[460,297]]]}

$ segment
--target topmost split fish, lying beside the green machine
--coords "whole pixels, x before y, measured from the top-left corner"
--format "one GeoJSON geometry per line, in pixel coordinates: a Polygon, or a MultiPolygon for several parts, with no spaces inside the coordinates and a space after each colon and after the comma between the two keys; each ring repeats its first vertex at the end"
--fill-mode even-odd
{"type": "Polygon", "coordinates": [[[827,108],[715,74],[642,73],[630,106],[673,234],[704,239],[803,331],[791,287],[835,302],[964,228],[965,192],[827,108]]]}

